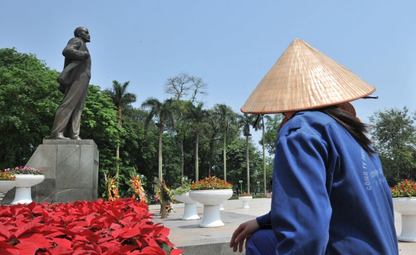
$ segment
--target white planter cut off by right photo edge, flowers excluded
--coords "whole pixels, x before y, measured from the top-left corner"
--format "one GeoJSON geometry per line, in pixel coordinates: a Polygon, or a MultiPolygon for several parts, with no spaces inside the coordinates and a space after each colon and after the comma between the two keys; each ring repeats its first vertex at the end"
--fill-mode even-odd
{"type": "Polygon", "coordinates": [[[393,198],[393,210],[401,214],[401,234],[397,239],[416,242],[416,198],[393,198]]]}

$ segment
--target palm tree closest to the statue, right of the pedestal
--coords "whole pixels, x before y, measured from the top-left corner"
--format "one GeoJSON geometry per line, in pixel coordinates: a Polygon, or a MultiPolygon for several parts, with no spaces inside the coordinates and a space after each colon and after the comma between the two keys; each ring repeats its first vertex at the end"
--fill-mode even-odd
{"type": "MultiPolygon", "coordinates": [[[[112,81],[112,88],[107,88],[104,93],[109,95],[118,109],[118,125],[122,126],[122,108],[136,102],[136,94],[127,92],[130,81],[120,84],[116,80],[112,81]]],[[[115,179],[118,181],[118,162],[120,161],[120,143],[117,143],[115,150],[115,179]]],[[[118,187],[118,182],[117,182],[118,187]]]]}

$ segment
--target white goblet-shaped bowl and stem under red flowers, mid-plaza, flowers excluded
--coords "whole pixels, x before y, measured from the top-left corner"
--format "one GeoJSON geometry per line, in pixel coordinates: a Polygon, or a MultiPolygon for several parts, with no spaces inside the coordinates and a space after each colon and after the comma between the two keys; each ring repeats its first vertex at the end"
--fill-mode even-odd
{"type": "Polygon", "coordinates": [[[204,205],[204,216],[201,228],[222,227],[219,204],[231,198],[232,189],[191,190],[189,197],[204,205]]]}

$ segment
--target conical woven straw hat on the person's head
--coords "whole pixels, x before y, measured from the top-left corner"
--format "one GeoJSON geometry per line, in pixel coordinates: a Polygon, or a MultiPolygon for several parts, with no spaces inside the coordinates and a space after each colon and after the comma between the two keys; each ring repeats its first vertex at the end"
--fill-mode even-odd
{"type": "Polygon", "coordinates": [[[278,113],[335,105],[376,89],[351,71],[295,39],[241,108],[245,113],[278,113]]]}

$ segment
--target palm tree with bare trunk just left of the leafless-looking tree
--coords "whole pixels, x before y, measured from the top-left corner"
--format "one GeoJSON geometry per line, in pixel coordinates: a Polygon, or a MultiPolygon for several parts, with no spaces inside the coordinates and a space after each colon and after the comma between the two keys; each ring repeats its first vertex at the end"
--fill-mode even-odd
{"type": "Polygon", "coordinates": [[[166,121],[172,119],[174,112],[174,100],[169,98],[160,102],[157,98],[148,97],[143,103],[143,108],[150,108],[149,115],[146,118],[146,125],[149,124],[153,117],[158,118],[156,126],[159,128],[159,180],[163,180],[162,176],[162,135],[163,127],[166,121]]]}

